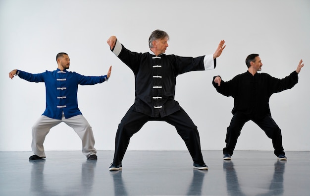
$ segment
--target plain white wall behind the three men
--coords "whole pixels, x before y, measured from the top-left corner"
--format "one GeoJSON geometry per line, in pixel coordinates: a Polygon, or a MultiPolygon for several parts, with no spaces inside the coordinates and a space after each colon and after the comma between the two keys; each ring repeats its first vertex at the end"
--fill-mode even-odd
{"type": "MultiPolygon", "coordinates": [[[[245,72],[246,57],[258,53],[262,72],[283,78],[305,67],[299,83],[270,98],[272,117],[282,130],[285,150],[310,150],[310,1],[309,0],[0,0],[0,151],[31,150],[31,127],[45,110],[44,83],[8,78],[18,68],[31,73],[54,70],[58,52],[68,53],[70,69],[104,75],[108,82],[79,86],[79,108],[91,124],[97,150],[114,150],[118,124],[134,102],[134,75],[110,52],[115,35],[128,49],[147,52],[155,29],[170,35],[166,54],[212,54],[226,48],[217,67],[177,78],[176,96],[197,125],[203,150],[221,150],[232,117],[233,99],[216,92],[214,75],[223,80],[245,72]]],[[[77,134],[65,124],[52,128],[46,150],[80,150],[77,134]]],[[[128,150],[186,150],[175,128],[149,122],[128,150]]],[[[236,150],[273,150],[271,140],[252,122],[236,150]]]]}

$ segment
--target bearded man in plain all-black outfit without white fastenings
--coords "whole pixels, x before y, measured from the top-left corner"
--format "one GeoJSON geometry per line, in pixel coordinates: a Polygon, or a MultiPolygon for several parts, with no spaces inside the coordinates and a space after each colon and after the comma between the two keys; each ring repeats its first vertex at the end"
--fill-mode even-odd
{"type": "Polygon", "coordinates": [[[296,71],[283,79],[272,77],[267,73],[258,73],[262,66],[258,54],[249,55],[246,65],[248,71],[230,81],[225,82],[220,76],[214,76],[212,81],[217,92],[234,98],[233,118],[227,128],[223,159],[231,159],[242,127],[252,120],[272,139],[274,154],[278,159],[287,160],[282,146],[281,130],[271,118],[269,98],[273,93],[290,89],[297,84],[298,73],[304,66],[303,60],[299,62],[296,71]]]}

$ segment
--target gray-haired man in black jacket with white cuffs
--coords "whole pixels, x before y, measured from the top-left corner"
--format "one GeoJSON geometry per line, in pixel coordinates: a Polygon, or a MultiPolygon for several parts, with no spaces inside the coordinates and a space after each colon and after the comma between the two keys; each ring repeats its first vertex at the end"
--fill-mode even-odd
{"type": "Polygon", "coordinates": [[[168,40],[166,32],[153,31],[149,38],[150,51],[147,53],[131,52],[115,36],[107,40],[110,50],[134,72],[136,90],[135,103],[121,120],[116,132],[110,171],[122,168],[122,159],[131,136],[148,121],[165,121],[174,126],[193,158],[194,168],[208,169],[203,160],[197,127],[174,100],[176,76],[189,71],[215,68],[216,58],[225,48],[225,42],[220,41],[213,55],[193,58],[165,55],[168,40]]]}

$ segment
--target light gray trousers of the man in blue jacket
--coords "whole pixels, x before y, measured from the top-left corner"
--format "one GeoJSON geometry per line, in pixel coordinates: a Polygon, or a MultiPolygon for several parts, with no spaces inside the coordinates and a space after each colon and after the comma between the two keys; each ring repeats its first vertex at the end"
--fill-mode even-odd
{"type": "Polygon", "coordinates": [[[32,143],[31,148],[35,155],[46,157],[44,152],[43,142],[46,135],[50,132],[51,128],[64,122],[79,135],[82,140],[82,152],[86,157],[96,154],[97,150],[94,148],[95,139],[92,127],[89,125],[83,115],[77,115],[69,119],[52,119],[47,116],[41,116],[32,127],[32,143]]]}

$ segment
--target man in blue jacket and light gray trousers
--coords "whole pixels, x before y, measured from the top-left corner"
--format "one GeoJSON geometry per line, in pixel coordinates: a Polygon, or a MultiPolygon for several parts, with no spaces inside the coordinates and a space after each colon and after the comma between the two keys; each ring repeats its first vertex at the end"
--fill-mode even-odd
{"type": "Polygon", "coordinates": [[[77,103],[78,84],[94,85],[107,81],[111,75],[111,66],[106,75],[84,76],[68,71],[70,59],[66,53],[56,56],[58,68],[43,73],[28,73],[19,69],[9,72],[30,82],[44,82],[46,86],[46,109],[39,120],[32,127],[32,151],[34,155],[29,160],[46,158],[43,142],[52,127],[64,122],[79,135],[82,140],[82,152],[88,159],[97,159],[94,147],[95,139],[92,127],[82,115],[77,103]]]}

